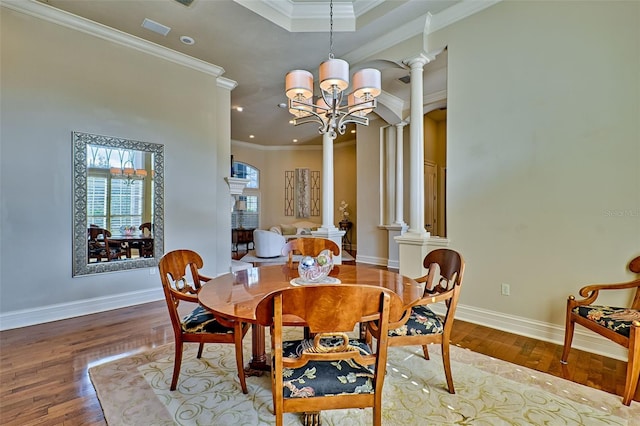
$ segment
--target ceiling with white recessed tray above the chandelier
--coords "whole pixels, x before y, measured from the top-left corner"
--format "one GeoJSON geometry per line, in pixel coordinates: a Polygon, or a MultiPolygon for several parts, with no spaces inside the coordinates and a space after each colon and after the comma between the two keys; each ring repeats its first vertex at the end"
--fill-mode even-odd
{"type": "MultiPolygon", "coordinates": [[[[292,145],[294,139],[300,145],[321,143],[317,125],[293,126],[287,109],[278,105],[287,101],[284,76],[288,71],[306,69],[317,75],[319,64],[328,57],[328,0],[39,1],[224,68],[223,77],[237,82],[231,92],[233,140],[266,146],[292,145]],[[144,28],[145,18],[170,31],[161,35],[144,28]],[[182,36],[195,43],[181,42],[182,36]]],[[[354,64],[367,65],[358,61],[397,43],[390,44],[392,38],[401,41],[407,34],[422,33],[428,14],[437,16],[460,3],[334,0],[333,53],[349,61],[353,71],[354,64]]],[[[410,84],[398,80],[409,75],[407,68],[378,62],[373,65],[382,72],[383,95],[408,105],[410,84]]],[[[446,89],[446,50],[426,65],[424,74],[425,93],[446,89]]],[[[338,142],[345,139],[353,135],[348,132],[338,142]]]]}

